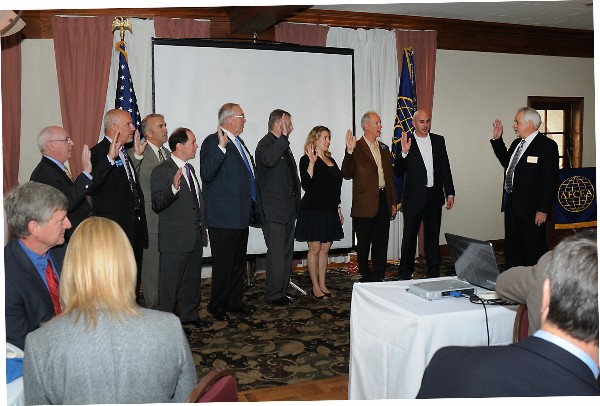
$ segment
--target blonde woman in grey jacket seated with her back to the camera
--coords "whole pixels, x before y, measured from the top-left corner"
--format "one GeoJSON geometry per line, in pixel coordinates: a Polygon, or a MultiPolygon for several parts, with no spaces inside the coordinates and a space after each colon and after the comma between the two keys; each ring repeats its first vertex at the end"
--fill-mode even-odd
{"type": "Polygon", "coordinates": [[[181,323],[139,307],[135,284],[121,227],[83,221],[60,275],[62,313],[25,339],[26,404],[185,402],[197,378],[181,323]]]}

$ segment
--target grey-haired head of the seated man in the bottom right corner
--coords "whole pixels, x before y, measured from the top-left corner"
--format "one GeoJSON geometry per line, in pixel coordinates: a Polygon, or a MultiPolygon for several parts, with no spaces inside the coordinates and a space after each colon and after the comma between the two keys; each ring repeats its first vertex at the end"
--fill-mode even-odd
{"type": "Polygon", "coordinates": [[[595,231],[567,237],[547,269],[550,308],[546,322],[577,340],[598,345],[598,244],[595,231]]]}

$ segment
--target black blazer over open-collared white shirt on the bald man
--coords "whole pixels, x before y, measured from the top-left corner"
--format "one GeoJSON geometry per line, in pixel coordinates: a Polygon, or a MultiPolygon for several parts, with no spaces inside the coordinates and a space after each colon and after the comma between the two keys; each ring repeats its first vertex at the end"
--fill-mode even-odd
{"type": "MultiPolygon", "coordinates": [[[[420,211],[427,202],[427,170],[414,134],[409,134],[408,137],[411,139],[410,151],[406,158],[402,158],[401,149],[396,153],[394,174],[404,176],[402,207],[405,210],[420,211]]],[[[442,206],[446,202],[446,196],[455,196],[452,171],[444,137],[429,133],[429,138],[433,155],[434,198],[442,206]]]]}

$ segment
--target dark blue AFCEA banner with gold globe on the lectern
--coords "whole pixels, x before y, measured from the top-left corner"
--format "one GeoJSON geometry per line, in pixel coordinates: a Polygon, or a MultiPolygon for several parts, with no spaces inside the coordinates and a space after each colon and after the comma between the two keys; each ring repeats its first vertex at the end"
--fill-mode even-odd
{"type": "Polygon", "coordinates": [[[554,204],[554,228],[596,226],[596,168],[570,168],[559,172],[554,204]]]}

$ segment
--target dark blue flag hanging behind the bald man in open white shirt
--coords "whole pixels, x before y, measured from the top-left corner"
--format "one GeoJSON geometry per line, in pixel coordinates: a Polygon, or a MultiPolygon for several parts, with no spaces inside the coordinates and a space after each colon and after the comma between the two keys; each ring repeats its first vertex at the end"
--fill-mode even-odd
{"type": "MultiPolygon", "coordinates": [[[[412,132],[415,127],[412,123],[413,115],[417,110],[417,86],[415,84],[415,70],[412,48],[404,48],[402,59],[402,72],[400,73],[400,89],[396,103],[396,119],[394,120],[394,138],[392,139],[392,159],[396,154],[402,153],[400,137],[402,132],[412,132]]],[[[392,161],[393,163],[393,161],[392,161]]],[[[396,204],[402,202],[404,189],[404,176],[396,177],[396,204]]]]}

